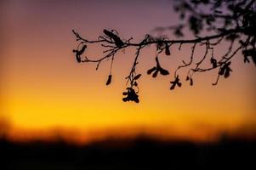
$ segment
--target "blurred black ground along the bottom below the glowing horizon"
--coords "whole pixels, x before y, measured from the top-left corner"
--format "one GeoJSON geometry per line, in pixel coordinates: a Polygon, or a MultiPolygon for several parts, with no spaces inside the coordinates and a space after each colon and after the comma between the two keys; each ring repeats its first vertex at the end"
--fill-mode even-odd
{"type": "Polygon", "coordinates": [[[138,138],[87,146],[64,142],[15,144],[0,141],[0,169],[256,169],[256,142],[215,144],[138,138]]]}

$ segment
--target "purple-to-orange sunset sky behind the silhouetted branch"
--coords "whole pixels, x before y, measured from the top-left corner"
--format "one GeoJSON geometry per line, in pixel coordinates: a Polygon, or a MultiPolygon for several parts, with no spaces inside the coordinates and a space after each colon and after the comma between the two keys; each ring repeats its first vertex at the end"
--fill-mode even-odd
{"type": "MultiPolygon", "coordinates": [[[[255,136],[255,66],[243,64],[237,54],[231,77],[212,86],[216,71],[195,76],[195,85],[185,83],[170,91],[170,81],[182,59],[189,59],[191,46],[171,48],[161,56],[170,77],[146,75],[155,65],[155,47],[139,57],[139,104],[122,102],[125,79],[135,49],[117,54],[113,83],[106,87],[110,62],[95,71],[94,64],[77,64],[75,29],[82,37],[97,39],[103,29],[116,29],[124,39],[139,42],[156,26],[179,23],[172,3],[117,0],[3,0],[1,1],[0,130],[9,139],[63,138],[90,142],[109,136],[147,134],[161,139],[209,141],[220,135],[255,136]],[[184,58],[181,58],[184,57],[184,58]]],[[[168,32],[168,37],[175,37],[168,32]]],[[[222,44],[216,55],[225,54],[222,44]]],[[[87,55],[100,56],[102,48],[88,46],[87,55]]],[[[201,56],[202,48],[196,48],[201,56]]]]}

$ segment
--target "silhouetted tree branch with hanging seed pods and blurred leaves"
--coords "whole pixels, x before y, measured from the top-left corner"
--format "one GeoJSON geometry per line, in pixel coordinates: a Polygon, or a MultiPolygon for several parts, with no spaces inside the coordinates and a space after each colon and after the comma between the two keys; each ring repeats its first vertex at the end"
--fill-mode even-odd
{"type": "MultiPolygon", "coordinates": [[[[216,85],[219,81],[219,77],[223,76],[225,78],[230,77],[231,59],[236,56],[238,52],[242,52],[244,57],[244,63],[250,63],[253,61],[256,65],[256,36],[254,31],[256,30],[256,3],[255,0],[180,0],[173,1],[174,11],[179,14],[180,23],[177,26],[168,27],[157,27],[156,31],[173,31],[176,37],[184,37],[185,28],[189,28],[191,33],[195,36],[194,39],[177,39],[172,40],[162,37],[152,37],[151,35],[146,35],[141,42],[131,42],[133,37],[128,40],[123,40],[119,33],[115,30],[104,30],[103,35],[99,37],[98,40],[89,41],[81,37],[77,31],[73,30],[73,33],[77,37],[78,46],[76,50],[77,62],[94,62],[97,64],[96,70],[102,60],[111,59],[111,66],[115,56],[118,52],[123,51],[128,47],[136,48],[137,52],[135,54],[134,64],[131,67],[126,79],[128,80],[127,92],[124,95],[127,97],[123,98],[123,101],[135,101],[139,103],[139,90],[135,92],[134,88],[138,88],[137,79],[141,74],[137,74],[136,67],[139,64],[138,58],[139,53],[142,48],[150,46],[151,44],[156,45],[156,66],[152,67],[147,71],[147,74],[152,77],[156,77],[158,72],[161,75],[169,75],[169,71],[162,68],[159,62],[159,54],[171,55],[170,48],[174,44],[179,44],[179,50],[181,50],[182,45],[191,44],[191,59],[189,62],[182,60],[183,65],[178,65],[177,69],[174,71],[174,82],[171,82],[171,90],[173,90],[176,85],[181,87],[181,82],[179,79],[178,71],[182,68],[188,67],[186,81],[189,81],[191,86],[194,84],[192,77],[195,73],[207,72],[213,70],[219,70],[216,85]],[[202,34],[207,34],[207,36],[202,36],[202,34]],[[214,49],[220,44],[220,42],[230,43],[230,47],[227,48],[227,52],[223,56],[214,56],[214,49]],[[103,48],[106,48],[103,52],[105,56],[100,59],[88,59],[88,57],[82,57],[88,43],[100,43],[103,48]],[[80,49],[80,46],[82,48],[80,49]],[[200,46],[205,48],[205,53],[198,58],[194,58],[195,48],[200,46]],[[211,58],[208,59],[208,54],[211,58]],[[195,62],[195,60],[199,60],[195,62]],[[202,67],[202,62],[206,61],[210,65],[207,68],[202,67]],[[191,66],[191,64],[196,66],[191,66]]],[[[111,84],[111,71],[106,82],[106,85],[111,84]]],[[[138,88],[139,89],[139,88],[138,88]]]]}

